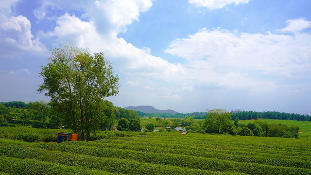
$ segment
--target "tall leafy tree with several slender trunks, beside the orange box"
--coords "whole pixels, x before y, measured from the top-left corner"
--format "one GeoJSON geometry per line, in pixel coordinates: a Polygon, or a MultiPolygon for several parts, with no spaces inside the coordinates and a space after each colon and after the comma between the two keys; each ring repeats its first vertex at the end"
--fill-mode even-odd
{"type": "Polygon", "coordinates": [[[55,48],[48,60],[39,73],[43,84],[38,92],[45,92],[63,123],[88,141],[103,120],[104,98],[119,93],[119,77],[104,53],[92,55],[88,49],[55,48]]]}

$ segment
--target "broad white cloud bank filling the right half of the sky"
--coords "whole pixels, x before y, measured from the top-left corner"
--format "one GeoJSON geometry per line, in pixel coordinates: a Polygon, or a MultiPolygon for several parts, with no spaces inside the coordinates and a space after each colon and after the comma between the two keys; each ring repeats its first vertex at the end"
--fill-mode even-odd
{"type": "Polygon", "coordinates": [[[166,53],[184,58],[196,85],[271,90],[276,82],[310,70],[310,34],[235,34],[205,28],[174,40],[166,53]],[[269,77],[269,78],[264,78],[269,77]]]}

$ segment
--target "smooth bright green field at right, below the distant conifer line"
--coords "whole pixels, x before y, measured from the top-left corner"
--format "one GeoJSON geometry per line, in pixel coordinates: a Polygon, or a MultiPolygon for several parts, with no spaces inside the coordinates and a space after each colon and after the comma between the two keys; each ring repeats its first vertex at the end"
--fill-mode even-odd
{"type": "MultiPolygon", "coordinates": [[[[309,140],[311,140],[311,122],[307,121],[292,121],[292,120],[272,120],[272,119],[259,119],[262,122],[267,122],[268,124],[271,123],[281,123],[287,124],[288,126],[294,125],[299,127],[298,137],[300,139],[308,140],[307,136],[309,135],[309,140]]],[[[242,124],[248,124],[254,122],[255,120],[245,120],[239,121],[242,124]]]]}

